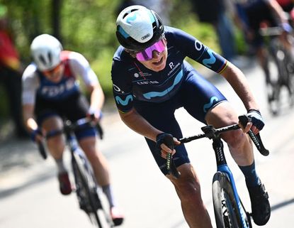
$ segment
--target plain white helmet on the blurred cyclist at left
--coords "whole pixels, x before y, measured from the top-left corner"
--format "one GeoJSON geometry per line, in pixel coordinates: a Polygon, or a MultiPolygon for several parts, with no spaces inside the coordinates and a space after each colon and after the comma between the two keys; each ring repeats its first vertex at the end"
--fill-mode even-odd
{"type": "Polygon", "coordinates": [[[42,34],[34,38],[30,53],[38,70],[52,70],[61,62],[62,44],[54,36],[42,34]]]}

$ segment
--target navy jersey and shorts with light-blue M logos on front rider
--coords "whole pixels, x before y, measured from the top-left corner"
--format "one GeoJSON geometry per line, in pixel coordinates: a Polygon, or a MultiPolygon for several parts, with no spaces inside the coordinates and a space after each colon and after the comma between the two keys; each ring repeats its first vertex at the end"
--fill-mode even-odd
{"type": "MultiPolygon", "coordinates": [[[[183,135],[174,116],[176,109],[183,107],[195,119],[205,123],[208,111],[226,100],[184,59],[189,57],[217,73],[225,70],[227,60],[179,29],[166,26],[164,34],[168,57],[166,67],[159,72],[149,70],[123,47],[118,48],[111,71],[113,96],[120,112],[135,108],[149,124],[180,139],[183,135]]],[[[166,159],[159,156],[154,141],[147,138],[146,141],[157,165],[166,175],[166,159]]],[[[175,149],[176,167],[190,162],[183,144],[175,149]]]]}

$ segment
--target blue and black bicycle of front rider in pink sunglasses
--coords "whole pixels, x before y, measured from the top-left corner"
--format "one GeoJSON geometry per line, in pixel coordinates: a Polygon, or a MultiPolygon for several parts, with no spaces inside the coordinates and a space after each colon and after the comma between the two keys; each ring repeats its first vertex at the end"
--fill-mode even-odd
{"type": "MultiPolygon", "coordinates": [[[[244,115],[239,116],[239,121],[242,126],[246,126],[250,119],[244,115]]],[[[238,124],[233,124],[220,129],[215,129],[213,126],[208,125],[203,126],[201,129],[203,134],[179,139],[179,141],[181,141],[181,143],[188,143],[203,138],[213,140],[213,150],[215,151],[215,159],[217,163],[217,172],[213,176],[213,207],[217,228],[251,228],[251,214],[245,210],[238,195],[234,177],[227,165],[227,161],[225,160],[223,143],[220,139],[220,134],[223,132],[240,129],[240,126],[238,124]]],[[[251,130],[248,134],[259,152],[264,156],[268,156],[269,152],[264,148],[260,135],[254,135],[251,130]]],[[[171,145],[172,141],[168,146],[172,148],[171,145]]],[[[166,167],[169,174],[174,175],[175,178],[179,178],[181,174],[174,166],[171,153],[168,153],[167,155],[166,167]]]]}

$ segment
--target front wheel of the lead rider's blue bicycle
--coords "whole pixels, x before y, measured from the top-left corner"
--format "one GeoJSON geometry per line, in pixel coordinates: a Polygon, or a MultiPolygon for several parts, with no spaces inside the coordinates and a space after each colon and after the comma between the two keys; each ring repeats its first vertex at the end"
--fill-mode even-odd
{"type": "Polygon", "coordinates": [[[234,192],[225,173],[213,176],[213,207],[217,228],[242,228],[234,192]]]}

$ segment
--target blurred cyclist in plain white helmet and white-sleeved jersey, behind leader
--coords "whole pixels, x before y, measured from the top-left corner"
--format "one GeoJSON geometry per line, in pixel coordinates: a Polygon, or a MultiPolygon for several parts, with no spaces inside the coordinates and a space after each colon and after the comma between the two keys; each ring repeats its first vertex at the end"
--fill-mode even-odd
{"type": "MultiPolygon", "coordinates": [[[[101,119],[104,94],[95,72],[83,55],[62,50],[60,41],[47,34],[37,36],[30,45],[30,51],[33,63],[23,72],[22,99],[24,123],[33,141],[42,141],[48,131],[62,129],[64,118],[77,121],[94,115],[95,121],[101,119]],[[79,78],[91,92],[90,104],[80,92],[79,78]]],[[[108,198],[113,221],[121,224],[123,215],[115,207],[108,163],[98,149],[96,130],[89,127],[75,134],[89,158],[98,184],[108,198]]],[[[68,195],[72,186],[62,160],[64,146],[63,136],[47,139],[47,147],[57,164],[60,192],[68,195]]]]}

